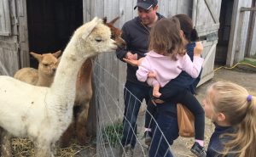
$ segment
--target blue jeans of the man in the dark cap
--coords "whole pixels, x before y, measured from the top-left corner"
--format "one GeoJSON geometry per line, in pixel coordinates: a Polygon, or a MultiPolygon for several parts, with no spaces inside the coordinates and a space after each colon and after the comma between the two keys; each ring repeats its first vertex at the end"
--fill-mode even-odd
{"type": "Polygon", "coordinates": [[[149,89],[150,87],[135,84],[131,81],[126,81],[125,83],[125,113],[123,120],[123,137],[121,139],[121,143],[123,146],[131,144],[131,147],[134,148],[136,144],[137,115],[141,107],[141,102],[143,102],[144,98],[146,104],[148,104],[149,89]]]}

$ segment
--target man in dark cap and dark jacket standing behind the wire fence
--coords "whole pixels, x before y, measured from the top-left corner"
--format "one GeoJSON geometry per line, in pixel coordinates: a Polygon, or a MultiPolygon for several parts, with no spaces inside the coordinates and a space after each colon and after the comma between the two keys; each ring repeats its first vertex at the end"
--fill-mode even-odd
{"type": "MultiPolygon", "coordinates": [[[[148,53],[149,31],[152,25],[161,18],[162,15],[157,13],[157,0],[137,0],[138,16],[127,21],[122,27],[122,37],[126,42],[126,48],[116,51],[117,57],[124,59],[140,59],[148,53]]],[[[123,156],[132,156],[133,149],[136,144],[137,133],[137,114],[141,106],[141,102],[145,98],[146,104],[149,101],[149,90],[147,82],[137,80],[137,66],[131,62],[127,62],[127,76],[124,89],[125,113],[123,120],[123,137],[121,140],[125,148],[123,156]]],[[[152,104],[151,104],[152,105],[152,104]]],[[[148,105],[148,109],[150,109],[148,105]]],[[[150,115],[146,115],[145,127],[149,127],[150,115]]],[[[148,135],[147,132],[145,135],[148,135]]]]}

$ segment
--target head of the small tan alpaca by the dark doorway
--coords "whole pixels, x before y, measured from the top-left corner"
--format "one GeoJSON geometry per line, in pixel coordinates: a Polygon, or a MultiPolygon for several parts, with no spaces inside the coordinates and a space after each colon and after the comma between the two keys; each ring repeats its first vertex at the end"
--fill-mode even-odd
{"type": "Polygon", "coordinates": [[[61,50],[55,53],[38,54],[31,52],[35,59],[38,59],[38,73],[44,76],[54,76],[58,65],[58,57],[61,55],[61,50]]]}

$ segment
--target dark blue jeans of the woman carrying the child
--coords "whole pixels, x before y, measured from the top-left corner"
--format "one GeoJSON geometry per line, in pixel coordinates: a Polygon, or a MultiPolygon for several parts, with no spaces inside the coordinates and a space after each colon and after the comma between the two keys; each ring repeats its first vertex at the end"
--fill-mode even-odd
{"type": "Polygon", "coordinates": [[[177,106],[170,103],[158,104],[149,157],[174,156],[169,146],[177,137],[177,106]]]}

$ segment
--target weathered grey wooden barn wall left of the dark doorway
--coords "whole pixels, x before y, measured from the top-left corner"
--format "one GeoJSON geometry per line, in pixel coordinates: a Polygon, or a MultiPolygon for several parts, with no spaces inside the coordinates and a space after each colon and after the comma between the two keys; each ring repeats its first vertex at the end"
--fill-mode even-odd
{"type": "Polygon", "coordinates": [[[29,64],[26,0],[0,0],[0,3],[5,6],[5,8],[0,7],[1,14],[4,12],[9,16],[9,19],[1,20],[1,25],[5,23],[10,27],[9,33],[0,33],[0,75],[14,76],[20,66],[29,64]]]}

